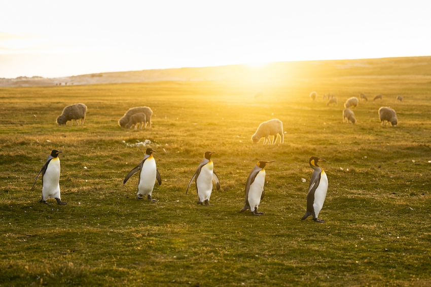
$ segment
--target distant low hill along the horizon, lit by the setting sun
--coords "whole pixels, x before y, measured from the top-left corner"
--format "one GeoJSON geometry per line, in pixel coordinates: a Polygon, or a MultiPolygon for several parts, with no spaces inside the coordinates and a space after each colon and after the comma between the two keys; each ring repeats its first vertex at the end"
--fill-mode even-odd
{"type": "Polygon", "coordinates": [[[44,78],[0,78],[0,87],[69,86],[148,81],[286,81],[334,76],[431,75],[431,57],[403,57],[360,60],[273,62],[260,67],[228,65],[108,72],[44,78]]]}

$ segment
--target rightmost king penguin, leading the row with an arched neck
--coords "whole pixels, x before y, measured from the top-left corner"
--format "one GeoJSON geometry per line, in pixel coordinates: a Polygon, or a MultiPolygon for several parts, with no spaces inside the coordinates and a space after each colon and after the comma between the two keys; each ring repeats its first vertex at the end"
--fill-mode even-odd
{"type": "Polygon", "coordinates": [[[318,161],[326,161],[325,159],[318,158],[317,156],[311,156],[308,160],[310,167],[314,170],[311,175],[310,184],[308,185],[307,193],[307,212],[301,220],[306,219],[310,215],[313,216],[313,220],[316,222],[325,222],[317,218],[325,202],[326,193],[328,191],[328,177],[325,171],[317,165],[318,161]]]}

